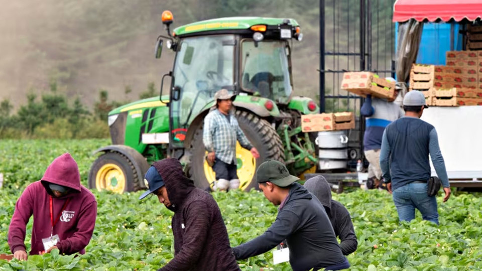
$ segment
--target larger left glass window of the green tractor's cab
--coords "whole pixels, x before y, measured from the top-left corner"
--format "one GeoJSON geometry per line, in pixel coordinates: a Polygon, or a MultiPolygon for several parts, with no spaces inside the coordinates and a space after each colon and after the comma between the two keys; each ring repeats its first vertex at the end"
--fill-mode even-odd
{"type": "Polygon", "coordinates": [[[234,44],[232,35],[182,40],[174,65],[174,87],[179,88],[179,100],[171,103],[175,126],[187,127],[219,89],[233,89],[234,44]]]}

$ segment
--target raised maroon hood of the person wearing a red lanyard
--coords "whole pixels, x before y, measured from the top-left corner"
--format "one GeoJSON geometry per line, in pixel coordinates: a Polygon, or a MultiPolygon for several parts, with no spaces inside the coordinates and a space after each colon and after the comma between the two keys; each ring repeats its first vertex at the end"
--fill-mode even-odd
{"type": "MultiPolygon", "coordinates": [[[[75,162],[69,153],[57,157],[45,171],[41,183],[45,187],[47,193],[51,196],[54,196],[54,194],[49,187],[49,183],[66,186],[71,188],[73,193],[80,193],[80,173],[77,162],[75,162]]],[[[72,193],[69,195],[71,194],[72,193]]],[[[69,197],[69,195],[64,197],[69,197]]]]}

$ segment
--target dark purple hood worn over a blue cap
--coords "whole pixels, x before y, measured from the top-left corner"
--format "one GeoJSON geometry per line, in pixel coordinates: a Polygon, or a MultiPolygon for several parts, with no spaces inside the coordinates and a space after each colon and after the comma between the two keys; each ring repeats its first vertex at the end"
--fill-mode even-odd
{"type": "Polygon", "coordinates": [[[171,202],[169,210],[179,210],[187,195],[194,189],[194,182],[187,178],[181,163],[174,158],[166,158],[152,164],[161,175],[166,186],[167,196],[171,202]]]}

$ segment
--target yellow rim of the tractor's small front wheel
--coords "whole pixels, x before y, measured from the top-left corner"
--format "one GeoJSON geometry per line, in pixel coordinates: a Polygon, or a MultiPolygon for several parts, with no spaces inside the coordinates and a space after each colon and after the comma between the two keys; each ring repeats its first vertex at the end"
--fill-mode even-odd
{"type": "Polygon", "coordinates": [[[126,176],[119,166],[105,164],[97,171],[95,186],[98,191],[105,189],[122,194],[126,189],[126,176]]]}

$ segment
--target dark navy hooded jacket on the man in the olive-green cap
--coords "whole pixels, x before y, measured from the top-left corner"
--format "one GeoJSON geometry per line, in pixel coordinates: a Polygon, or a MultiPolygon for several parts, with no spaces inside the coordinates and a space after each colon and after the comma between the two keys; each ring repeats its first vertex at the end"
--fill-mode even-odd
{"type": "Polygon", "coordinates": [[[325,209],[302,185],[291,185],[275,222],[261,236],[233,248],[236,259],[265,253],[287,240],[294,271],[330,266],[345,261],[325,209]]]}

